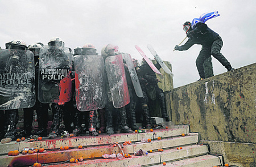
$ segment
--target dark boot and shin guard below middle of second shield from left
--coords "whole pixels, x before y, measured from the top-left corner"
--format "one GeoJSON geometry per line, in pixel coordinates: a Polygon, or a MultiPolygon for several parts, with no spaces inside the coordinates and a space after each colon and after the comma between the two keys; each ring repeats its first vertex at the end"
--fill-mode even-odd
{"type": "Polygon", "coordinates": [[[59,135],[59,127],[60,127],[60,120],[61,120],[61,108],[57,104],[52,104],[52,127],[51,132],[49,133],[48,138],[53,139],[57,138],[59,135]]]}

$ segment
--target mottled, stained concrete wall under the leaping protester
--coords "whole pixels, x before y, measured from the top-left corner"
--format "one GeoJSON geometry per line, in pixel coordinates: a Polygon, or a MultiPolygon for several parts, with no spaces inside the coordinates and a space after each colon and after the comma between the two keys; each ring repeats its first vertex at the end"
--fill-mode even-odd
{"type": "Polygon", "coordinates": [[[225,162],[256,166],[256,63],[166,92],[175,125],[189,125],[225,162]]]}

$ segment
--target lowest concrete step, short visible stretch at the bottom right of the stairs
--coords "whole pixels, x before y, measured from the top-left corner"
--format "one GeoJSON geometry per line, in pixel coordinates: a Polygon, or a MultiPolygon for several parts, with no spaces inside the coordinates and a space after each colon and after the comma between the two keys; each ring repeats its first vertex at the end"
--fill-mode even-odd
{"type": "MultiPolygon", "coordinates": [[[[223,164],[221,156],[203,155],[198,157],[192,157],[189,159],[167,162],[165,166],[183,166],[183,167],[209,167],[219,166],[223,164]]],[[[163,166],[163,161],[159,165],[153,165],[154,167],[163,166]]]]}

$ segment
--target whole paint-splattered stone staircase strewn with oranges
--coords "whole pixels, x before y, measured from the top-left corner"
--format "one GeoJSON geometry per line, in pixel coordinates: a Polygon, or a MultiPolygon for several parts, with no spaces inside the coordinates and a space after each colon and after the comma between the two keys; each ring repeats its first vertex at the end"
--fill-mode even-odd
{"type": "Polygon", "coordinates": [[[43,139],[35,142],[11,142],[0,144],[0,166],[32,166],[35,162],[43,166],[220,166],[223,164],[221,156],[209,154],[208,146],[198,144],[199,134],[189,133],[189,126],[174,126],[174,129],[158,129],[152,132],[133,134],[114,134],[99,136],[79,136],[63,139],[43,139]],[[181,136],[185,134],[185,136],[181,136]],[[158,137],[162,137],[158,140],[158,137]],[[151,142],[147,142],[151,139],[151,142]],[[146,140],[146,142],[142,142],[146,140]],[[131,144],[122,145],[126,141],[131,144]],[[114,147],[119,143],[120,148],[114,147]],[[78,146],[82,145],[82,149],[78,146]],[[61,146],[69,149],[60,151],[61,146]],[[8,156],[9,151],[24,148],[44,148],[42,153],[32,153],[18,156],[8,156]],[[177,149],[181,147],[181,149],[177,149]],[[158,149],[163,149],[159,152],[158,149]],[[133,153],[142,149],[148,151],[148,155],[135,156],[133,153]],[[149,151],[152,150],[152,153],[149,151]],[[103,159],[105,154],[128,153],[129,158],[103,159]],[[69,160],[84,160],[70,163],[69,160]]]}

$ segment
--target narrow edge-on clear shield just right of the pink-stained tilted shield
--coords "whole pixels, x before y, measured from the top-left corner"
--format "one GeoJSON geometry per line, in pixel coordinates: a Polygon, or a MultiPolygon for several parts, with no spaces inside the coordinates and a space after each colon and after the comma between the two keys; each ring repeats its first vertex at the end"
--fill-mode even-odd
{"type": "Polygon", "coordinates": [[[122,54],[123,59],[125,59],[126,65],[129,70],[129,74],[131,76],[131,82],[133,83],[133,87],[135,90],[135,93],[138,97],[143,97],[143,92],[141,89],[141,84],[139,83],[139,78],[138,75],[135,71],[134,65],[133,65],[133,60],[131,59],[130,54],[122,54]]]}

